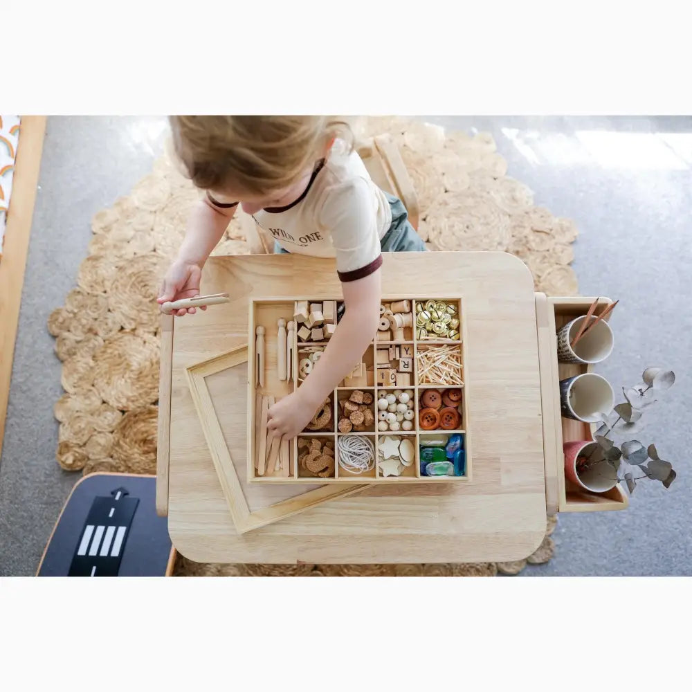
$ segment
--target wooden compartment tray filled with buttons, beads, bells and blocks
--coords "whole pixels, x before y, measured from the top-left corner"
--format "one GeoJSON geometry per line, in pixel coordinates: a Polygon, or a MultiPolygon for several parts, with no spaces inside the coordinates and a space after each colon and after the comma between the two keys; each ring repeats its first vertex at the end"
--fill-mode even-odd
{"type": "MultiPolygon", "coordinates": [[[[254,344],[257,327],[264,327],[264,386],[259,383],[257,358],[253,358],[248,373],[248,412],[251,414],[249,429],[255,434],[248,436],[248,481],[305,483],[314,482],[317,477],[320,477],[320,482],[349,484],[471,480],[468,388],[464,383],[465,322],[461,298],[385,296],[380,309],[381,328],[373,335],[351,375],[339,383],[321,410],[322,418],[328,419],[327,423],[320,429],[310,426],[311,429],[301,432],[289,443],[290,450],[286,446],[283,455],[278,441],[272,446],[266,433],[266,415],[262,415],[262,399],[266,401],[266,408],[293,392],[309,376],[309,369],[316,362],[313,358],[326,347],[342,309],[343,301],[336,296],[334,300],[305,296],[295,300],[251,300],[248,343],[254,344]],[[403,312],[408,316],[401,320],[406,322],[401,329],[385,328],[392,309],[397,310],[397,315],[403,312]],[[307,325],[286,331],[285,336],[282,333],[279,337],[279,320],[283,320],[282,325],[293,322],[300,327],[301,323],[296,318],[300,320],[313,315],[318,316],[317,327],[308,320],[307,325]],[[430,329],[433,323],[437,324],[443,336],[430,329]],[[422,326],[424,324],[428,329],[422,326]],[[283,347],[282,355],[279,357],[278,354],[279,342],[284,338],[290,339],[293,345],[293,349],[286,347],[287,358],[284,358],[283,347]],[[431,358],[437,361],[444,358],[444,364],[434,369],[427,367],[431,358]],[[278,372],[280,363],[281,373],[278,372]],[[284,375],[285,379],[280,379],[284,375]],[[387,408],[383,408],[382,402],[388,404],[387,408]],[[408,410],[411,413],[407,413],[408,410]],[[354,425],[349,416],[354,417],[354,421],[361,421],[363,417],[365,420],[354,425]],[[457,444],[461,441],[462,447],[455,474],[426,475],[432,450],[424,452],[423,449],[435,439],[446,441],[452,435],[457,444]],[[341,449],[341,443],[343,438],[354,437],[361,437],[361,441],[372,448],[370,468],[347,468],[343,459],[347,453],[341,449]],[[385,459],[385,450],[392,453],[392,440],[388,441],[388,438],[392,438],[394,444],[404,441],[408,458],[398,451],[385,459]],[[334,462],[319,475],[303,462],[296,463],[296,460],[304,459],[313,441],[323,447],[326,445],[329,455],[334,455],[334,462]],[[422,462],[421,454],[426,455],[422,462]]],[[[399,449],[403,448],[400,446],[399,449]]],[[[450,458],[453,458],[451,454],[450,458]]],[[[451,461],[446,468],[451,471],[451,461]]]]}

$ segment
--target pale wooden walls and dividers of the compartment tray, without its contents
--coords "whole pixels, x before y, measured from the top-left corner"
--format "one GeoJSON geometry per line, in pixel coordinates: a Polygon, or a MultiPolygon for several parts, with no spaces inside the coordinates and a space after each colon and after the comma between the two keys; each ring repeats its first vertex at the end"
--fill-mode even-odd
{"type": "MultiPolygon", "coordinates": [[[[255,388],[255,358],[251,359],[249,364],[248,372],[248,413],[250,415],[250,430],[255,430],[257,426],[257,397],[258,396],[273,396],[277,400],[281,397],[285,397],[287,394],[293,392],[298,386],[298,361],[299,353],[301,347],[309,347],[316,345],[327,345],[327,340],[322,340],[318,342],[302,342],[295,336],[294,339],[294,357],[293,357],[293,370],[292,378],[289,381],[280,381],[277,376],[277,320],[283,318],[286,320],[286,324],[290,320],[293,320],[293,315],[295,313],[295,306],[298,301],[307,300],[307,302],[320,302],[323,303],[325,300],[334,300],[336,302],[343,302],[343,298],[338,296],[332,296],[331,298],[310,298],[303,296],[295,296],[293,300],[286,300],[285,298],[260,298],[251,299],[250,301],[250,320],[249,321],[249,332],[248,332],[248,343],[254,345],[255,343],[255,329],[256,327],[262,325],[265,328],[264,343],[265,343],[265,366],[264,366],[264,387],[255,388]]],[[[465,384],[464,377],[464,342],[466,340],[466,322],[464,320],[464,309],[463,300],[461,298],[424,298],[416,299],[411,298],[408,295],[402,296],[392,296],[388,295],[383,298],[382,303],[394,302],[397,300],[410,300],[411,310],[413,314],[414,327],[404,328],[404,339],[399,341],[379,341],[374,335],[374,338],[365,354],[363,354],[363,361],[367,365],[372,365],[374,372],[376,372],[376,364],[374,363],[375,351],[378,347],[388,347],[390,345],[400,346],[402,344],[412,345],[413,347],[413,372],[412,372],[412,384],[410,387],[396,385],[378,385],[376,377],[372,381],[372,385],[360,385],[360,386],[338,386],[334,392],[331,394],[331,426],[325,430],[318,430],[314,432],[304,431],[297,438],[293,439],[291,442],[291,473],[289,477],[282,475],[280,471],[275,471],[273,469],[267,469],[264,475],[258,475],[257,469],[255,468],[255,459],[257,457],[257,440],[255,435],[248,435],[248,481],[256,483],[306,483],[306,482],[318,482],[320,483],[361,483],[361,484],[372,484],[372,483],[440,483],[440,482],[454,482],[462,481],[466,482],[471,480],[471,453],[469,445],[468,436],[468,387],[465,384]],[[416,304],[418,302],[426,302],[427,300],[444,301],[447,303],[455,303],[457,307],[457,317],[459,318],[459,340],[451,340],[449,338],[439,338],[439,339],[424,339],[419,340],[415,333],[415,315],[416,315],[416,304]],[[462,361],[462,385],[444,385],[435,383],[425,383],[421,384],[418,381],[418,367],[417,367],[417,354],[418,349],[421,346],[435,347],[439,345],[458,345],[459,352],[462,361]],[[462,389],[462,402],[460,405],[461,413],[461,423],[458,429],[455,430],[421,430],[418,420],[418,408],[419,408],[419,397],[422,392],[426,389],[437,388],[439,390],[444,389],[462,389]],[[342,433],[338,432],[338,404],[339,399],[348,398],[354,390],[362,390],[363,392],[370,392],[373,396],[373,410],[376,417],[377,409],[376,402],[378,400],[379,392],[391,391],[394,389],[403,390],[413,390],[414,401],[415,401],[415,412],[416,415],[412,420],[414,424],[413,429],[410,432],[403,430],[399,431],[379,431],[376,428],[377,420],[375,420],[375,426],[373,430],[368,430],[367,432],[349,432],[345,435],[363,435],[369,437],[374,442],[375,448],[375,466],[371,471],[367,471],[360,475],[354,473],[349,473],[343,468],[340,468],[338,464],[338,439],[343,436],[342,433]],[[420,470],[420,460],[419,460],[419,443],[421,437],[425,439],[432,435],[452,435],[459,433],[464,439],[464,450],[465,450],[465,468],[464,475],[459,476],[425,476],[421,475],[420,470]],[[383,477],[380,475],[379,468],[379,439],[381,436],[392,436],[392,437],[409,437],[414,441],[415,448],[415,459],[411,466],[408,466],[401,475],[398,476],[387,476],[383,477]],[[300,437],[313,438],[317,437],[322,440],[331,439],[334,441],[336,464],[334,477],[319,478],[316,479],[314,476],[306,475],[304,470],[300,468],[297,463],[298,460],[298,439],[300,437]],[[295,460],[295,462],[294,462],[295,460]]],[[[251,346],[251,350],[253,347],[251,346]]]]}

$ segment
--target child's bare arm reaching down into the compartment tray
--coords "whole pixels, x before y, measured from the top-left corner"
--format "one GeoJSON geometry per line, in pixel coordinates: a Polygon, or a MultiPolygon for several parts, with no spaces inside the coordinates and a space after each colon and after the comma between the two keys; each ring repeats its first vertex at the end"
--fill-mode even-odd
{"type": "Polygon", "coordinates": [[[381,270],[341,284],[346,311],[325,352],[300,387],[269,409],[267,428],[292,439],[351,372],[372,343],[380,318],[381,270]]]}

